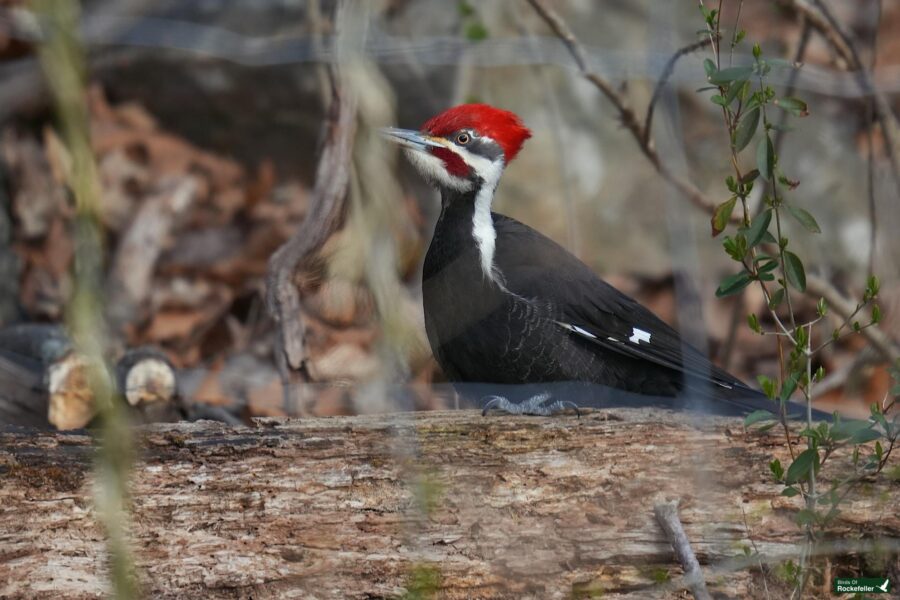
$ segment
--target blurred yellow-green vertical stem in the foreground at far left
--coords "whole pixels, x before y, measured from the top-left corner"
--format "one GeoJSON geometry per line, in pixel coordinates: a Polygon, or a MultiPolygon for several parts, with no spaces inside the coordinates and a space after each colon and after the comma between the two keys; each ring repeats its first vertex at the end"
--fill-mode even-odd
{"type": "Polygon", "coordinates": [[[75,199],[74,290],[67,325],[75,346],[91,365],[87,372],[100,416],[101,450],[95,466],[94,503],[109,552],[112,591],[116,598],[137,595],[125,536],[125,496],[131,463],[128,427],[116,402],[105,364],[106,340],[102,298],[103,243],[99,227],[100,183],[89,139],[85,57],[79,39],[76,0],[35,0],[43,24],[41,64],[56,103],[58,126],[68,150],[68,184],[75,199]]]}

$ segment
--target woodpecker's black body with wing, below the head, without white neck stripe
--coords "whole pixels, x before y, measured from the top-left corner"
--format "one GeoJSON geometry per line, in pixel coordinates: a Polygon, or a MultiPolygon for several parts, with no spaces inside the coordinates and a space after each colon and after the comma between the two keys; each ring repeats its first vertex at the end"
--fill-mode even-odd
{"type": "Polygon", "coordinates": [[[734,396],[735,385],[753,393],[556,242],[497,213],[487,276],[473,235],[475,196],[445,192],[422,275],[428,340],[451,381],[581,381],[674,396],[688,369],[718,395],[734,396]],[[630,341],[635,328],[650,341],[630,341]]]}

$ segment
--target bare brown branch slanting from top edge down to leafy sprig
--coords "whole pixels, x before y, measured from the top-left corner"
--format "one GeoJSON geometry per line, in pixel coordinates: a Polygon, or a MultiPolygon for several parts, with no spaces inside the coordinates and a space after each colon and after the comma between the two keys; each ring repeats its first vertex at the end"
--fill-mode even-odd
{"type": "Polygon", "coordinates": [[[571,54],[572,58],[575,60],[575,64],[581,75],[594,84],[594,86],[600,90],[600,92],[606,96],[616,108],[622,124],[629,132],[631,132],[631,135],[634,136],[641,152],[647,160],[650,161],[650,164],[653,165],[662,178],[674,186],[695,206],[712,214],[715,211],[716,202],[707,197],[706,194],[701,192],[693,183],[672,171],[656,152],[656,149],[653,147],[653,142],[649,140],[649,135],[647,136],[648,141],[644,142],[645,125],[640,122],[637,114],[630,106],[628,106],[625,98],[615,87],[613,87],[612,83],[591,70],[590,66],[587,64],[584,48],[581,46],[578,38],[575,37],[575,34],[572,33],[572,30],[569,29],[569,26],[566,25],[565,21],[562,20],[556,11],[544,4],[542,0],[528,0],[528,2],[534,7],[535,11],[537,11],[547,25],[550,26],[553,33],[555,33],[563,44],[565,44],[569,54],[571,54]]]}

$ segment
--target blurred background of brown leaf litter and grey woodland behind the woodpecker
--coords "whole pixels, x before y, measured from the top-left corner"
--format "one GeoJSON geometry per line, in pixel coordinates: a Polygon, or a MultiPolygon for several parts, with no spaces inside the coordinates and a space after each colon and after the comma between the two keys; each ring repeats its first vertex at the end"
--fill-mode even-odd
{"type": "MultiPolygon", "coordinates": [[[[726,15],[736,4],[725,3],[726,15]]],[[[830,5],[864,61],[875,65],[874,81],[896,111],[900,4],[830,5]]],[[[698,39],[700,20],[690,1],[559,0],[553,6],[584,44],[590,66],[620,86],[639,113],[672,54],[698,39]]],[[[802,26],[790,6],[743,7],[748,39],[759,41],[767,56],[796,52],[802,26]]],[[[358,177],[345,227],[295,278],[314,393],[292,410],[384,410],[389,406],[372,394],[361,400],[353,392],[355,384],[375,380],[410,380],[417,408],[452,402],[430,387],[442,378],[424,339],[419,299],[421,260],[439,203],[395,160],[395,149],[366,131],[382,124],[418,127],[468,101],[512,110],[533,131],[503,178],[497,211],[565,245],[690,339],[705,342],[737,374],[752,378],[777,369],[772,344],[733,326],[738,313],[743,323],[743,313],[764,312],[761,295],[748,290],[740,310],[735,299],[714,298],[729,261],[710,237],[708,215],[657,175],[528,3],[383,0],[365,7],[355,59],[368,65],[365,80],[356,80],[358,177]],[[384,177],[392,171],[402,185],[384,177]],[[390,248],[370,252],[383,236],[392,239],[390,248]],[[386,322],[402,343],[383,335],[386,322]]],[[[341,52],[333,13],[332,2],[303,0],[83,5],[89,133],[108,255],[98,291],[110,323],[110,358],[128,348],[160,350],[178,372],[189,406],[218,406],[238,418],[285,411],[263,281],[270,255],[309,211],[329,104],[323,66],[341,52]]],[[[4,326],[60,322],[75,290],[71,159],[38,62],[39,38],[28,4],[0,2],[4,326]]],[[[654,127],[664,160],[724,201],[717,195],[730,166],[721,115],[695,91],[706,83],[704,57],[697,52],[678,62],[654,127]]],[[[738,52],[734,60],[749,58],[738,52]]],[[[824,234],[791,239],[809,271],[849,290],[861,288],[874,238],[885,328],[896,339],[897,193],[884,140],[870,124],[868,97],[845,67],[821,36],[811,36],[796,79],[811,115],[794,123],[781,154],[784,170],[801,182],[792,201],[814,212],[824,234]]],[[[776,73],[773,83],[783,86],[789,76],[776,73]]],[[[814,301],[800,310],[813,311],[814,301]]],[[[865,411],[883,397],[889,385],[883,366],[849,369],[863,344],[853,339],[823,358],[845,376],[825,389],[822,406],[865,411]]]]}

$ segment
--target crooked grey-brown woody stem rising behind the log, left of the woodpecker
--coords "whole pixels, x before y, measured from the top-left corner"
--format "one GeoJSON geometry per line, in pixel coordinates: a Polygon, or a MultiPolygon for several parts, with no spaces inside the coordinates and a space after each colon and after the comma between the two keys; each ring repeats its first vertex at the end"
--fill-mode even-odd
{"type": "Polygon", "coordinates": [[[294,273],[340,226],[346,212],[350,161],[356,132],[356,99],[339,89],[330,72],[332,102],[325,124],[325,142],[316,169],[309,214],[287,242],[269,259],[266,305],[278,322],[276,360],[284,385],[286,408],[295,409],[293,384],[305,379],[306,349],[300,293],[294,273]]]}

